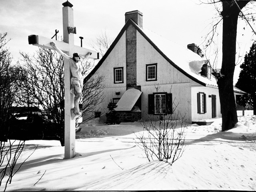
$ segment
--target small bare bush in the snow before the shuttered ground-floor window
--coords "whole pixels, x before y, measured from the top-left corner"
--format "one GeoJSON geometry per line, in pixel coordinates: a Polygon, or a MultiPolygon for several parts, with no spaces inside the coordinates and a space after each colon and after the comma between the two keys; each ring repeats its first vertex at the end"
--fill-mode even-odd
{"type": "Polygon", "coordinates": [[[185,115],[182,116],[177,110],[178,104],[175,105],[174,101],[170,114],[162,112],[147,115],[149,120],[142,119],[140,122],[144,131],[136,134],[136,144],[144,151],[149,161],[157,158],[172,165],[184,152],[187,124],[185,115]]]}

